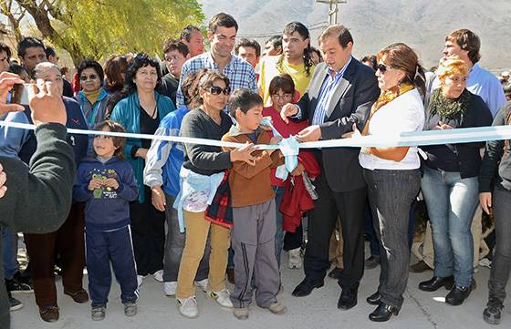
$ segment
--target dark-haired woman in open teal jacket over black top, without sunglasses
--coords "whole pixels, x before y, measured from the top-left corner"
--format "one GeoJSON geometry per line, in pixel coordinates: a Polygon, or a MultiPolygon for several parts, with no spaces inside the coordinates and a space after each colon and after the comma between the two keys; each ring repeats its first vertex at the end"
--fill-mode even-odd
{"type": "MultiPolygon", "coordinates": [[[[156,88],[162,77],[158,62],[139,54],[131,61],[122,94],[110,119],[119,122],[127,132],[154,134],[160,121],[175,108],[171,98],[160,95],[156,88]]],[[[124,154],[139,184],[139,199],[130,203],[131,239],[137,263],[137,279],[152,273],[163,281],[163,250],[165,215],[151,205],[151,189],[143,185],[143,169],[151,139],[128,139],[124,154]]]]}

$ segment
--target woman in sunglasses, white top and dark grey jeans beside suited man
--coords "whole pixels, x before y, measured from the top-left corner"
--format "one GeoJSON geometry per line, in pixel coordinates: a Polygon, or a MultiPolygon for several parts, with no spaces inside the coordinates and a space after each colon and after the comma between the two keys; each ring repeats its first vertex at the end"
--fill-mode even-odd
{"type": "MultiPolygon", "coordinates": [[[[425,79],[417,54],[397,43],[381,49],[377,58],[381,95],[370,110],[362,135],[389,138],[422,130],[425,79]]],[[[417,147],[362,148],[359,160],[381,250],[380,285],[367,299],[378,307],[369,318],[383,322],[401,310],[408,282],[409,211],[421,184],[421,161],[417,147]]]]}

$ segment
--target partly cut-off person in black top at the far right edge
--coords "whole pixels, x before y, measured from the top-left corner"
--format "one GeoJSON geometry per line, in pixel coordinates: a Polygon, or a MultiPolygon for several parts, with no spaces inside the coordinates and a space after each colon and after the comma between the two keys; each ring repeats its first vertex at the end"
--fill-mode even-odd
{"type": "MultiPolygon", "coordinates": [[[[511,124],[511,101],[497,113],[493,126],[511,124]]],[[[479,174],[481,208],[495,218],[495,254],[488,281],[489,297],[483,317],[488,324],[500,323],[511,272],[511,158],[509,140],[489,140],[479,174]]]]}

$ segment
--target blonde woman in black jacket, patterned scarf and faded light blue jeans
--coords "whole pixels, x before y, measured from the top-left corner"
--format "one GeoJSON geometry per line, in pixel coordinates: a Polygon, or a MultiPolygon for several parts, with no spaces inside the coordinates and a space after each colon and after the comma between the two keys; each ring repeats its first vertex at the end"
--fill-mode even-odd
{"type": "MultiPolygon", "coordinates": [[[[492,124],[485,102],[466,89],[468,68],[459,57],[444,59],[437,70],[440,88],[433,91],[426,111],[425,130],[484,127],[492,124]]],[[[477,207],[485,142],[423,147],[422,194],[433,230],[433,278],[419,284],[426,292],[450,289],[445,303],[460,305],[475,288],[474,244],[470,231],[477,207]]]]}

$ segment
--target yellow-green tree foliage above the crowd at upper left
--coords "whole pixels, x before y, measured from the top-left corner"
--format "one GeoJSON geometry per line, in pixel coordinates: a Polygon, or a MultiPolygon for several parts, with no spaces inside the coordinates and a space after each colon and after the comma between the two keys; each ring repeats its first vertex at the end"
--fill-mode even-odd
{"type": "MultiPolygon", "coordinates": [[[[15,1],[22,8],[30,3],[15,1]]],[[[128,52],[162,54],[166,39],[184,26],[201,26],[204,18],[196,0],[54,0],[37,9],[51,24],[50,32],[37,25],[42,36],[68,50],[75,64],[128,52]]]]}

